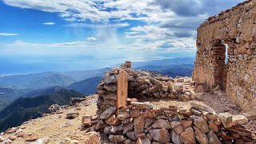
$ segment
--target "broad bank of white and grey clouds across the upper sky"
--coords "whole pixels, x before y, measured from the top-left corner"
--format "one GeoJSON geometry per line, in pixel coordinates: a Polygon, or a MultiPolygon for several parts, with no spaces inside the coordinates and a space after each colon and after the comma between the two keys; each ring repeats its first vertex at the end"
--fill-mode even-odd
{"type": "MultiPolygon", "coordinates": [[[[232,2],[222,0],[209,2],[207,0],[2,1],[9,6],[58,13],[59,17],[73,22],[66,25],[68,27],[96,29],[94,31],[95,39],[97,39],[97,42],[102,42],[101,45],[94,46],[86,43],[94,43],[94,38],[87,38],[90,41],[52,44],[33,43],[33,46],[94,46],[102,49],[113,46],[118,49],[139,49],[145,53],[150,53],[150,51],[157,50],[195,50],[194,38],[199,24],[210,15],[234,6],[235,3],[242,0],[232,2]],[[210,8],[211,6],[214,6],[214,8],[210,8]],[[127,20],[136,22],[128,23],[127,20]],[[129,26],[133,27],[130,28],[129,26]],[[118,30],[121,28],[126,28],[126,32],[120,37],[118,30]]],[[[27,43],[22,42],[16,44],[27,45],[27,43]]]]}

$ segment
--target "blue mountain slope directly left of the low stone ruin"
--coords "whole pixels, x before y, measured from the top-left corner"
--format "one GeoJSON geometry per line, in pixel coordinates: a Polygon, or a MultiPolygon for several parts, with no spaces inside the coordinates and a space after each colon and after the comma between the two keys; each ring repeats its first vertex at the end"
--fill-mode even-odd
{"type": "Polygon", "coordinates": [[[82,94],[94,94],[101,80],[102,77],[88,78],[80,82],[74,82],[70,86],[67,86],[66,89],[77,90],[82,94]]]}

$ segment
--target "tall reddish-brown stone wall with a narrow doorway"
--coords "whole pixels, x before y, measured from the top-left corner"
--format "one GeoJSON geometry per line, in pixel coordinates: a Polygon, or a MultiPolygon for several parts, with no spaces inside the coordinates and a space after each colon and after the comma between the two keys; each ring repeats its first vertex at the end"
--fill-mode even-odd
{"type": "Polygon", "coordinates": [[[198,27],[197,49],[192,79],[221,87],[232,102],[256,114],[256,1],[208,18],[198,27]]]}

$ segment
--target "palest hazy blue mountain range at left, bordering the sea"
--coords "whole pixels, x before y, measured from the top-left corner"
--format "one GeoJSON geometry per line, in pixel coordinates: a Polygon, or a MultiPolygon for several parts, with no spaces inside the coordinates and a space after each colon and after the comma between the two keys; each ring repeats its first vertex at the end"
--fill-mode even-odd
{"type": "Polygon", "coordinates": [[[14,74],[0,77],[0,84],[23,89],[45,89],[52,86],[69,86],[71,83],[101,76],[110,70],[106,67],[97,70],[75,70],[68,72],[42,72],[36,74],[14,74]]]}

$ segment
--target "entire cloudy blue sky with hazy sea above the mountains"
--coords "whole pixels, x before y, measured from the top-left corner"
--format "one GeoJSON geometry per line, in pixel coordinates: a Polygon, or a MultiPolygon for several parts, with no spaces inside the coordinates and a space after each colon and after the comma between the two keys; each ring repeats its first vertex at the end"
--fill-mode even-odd
{"type": "Polygon", "coordinates": [[[0,0],[0,74],[194,57],[196,29],[242,0],[0,0]]]}

